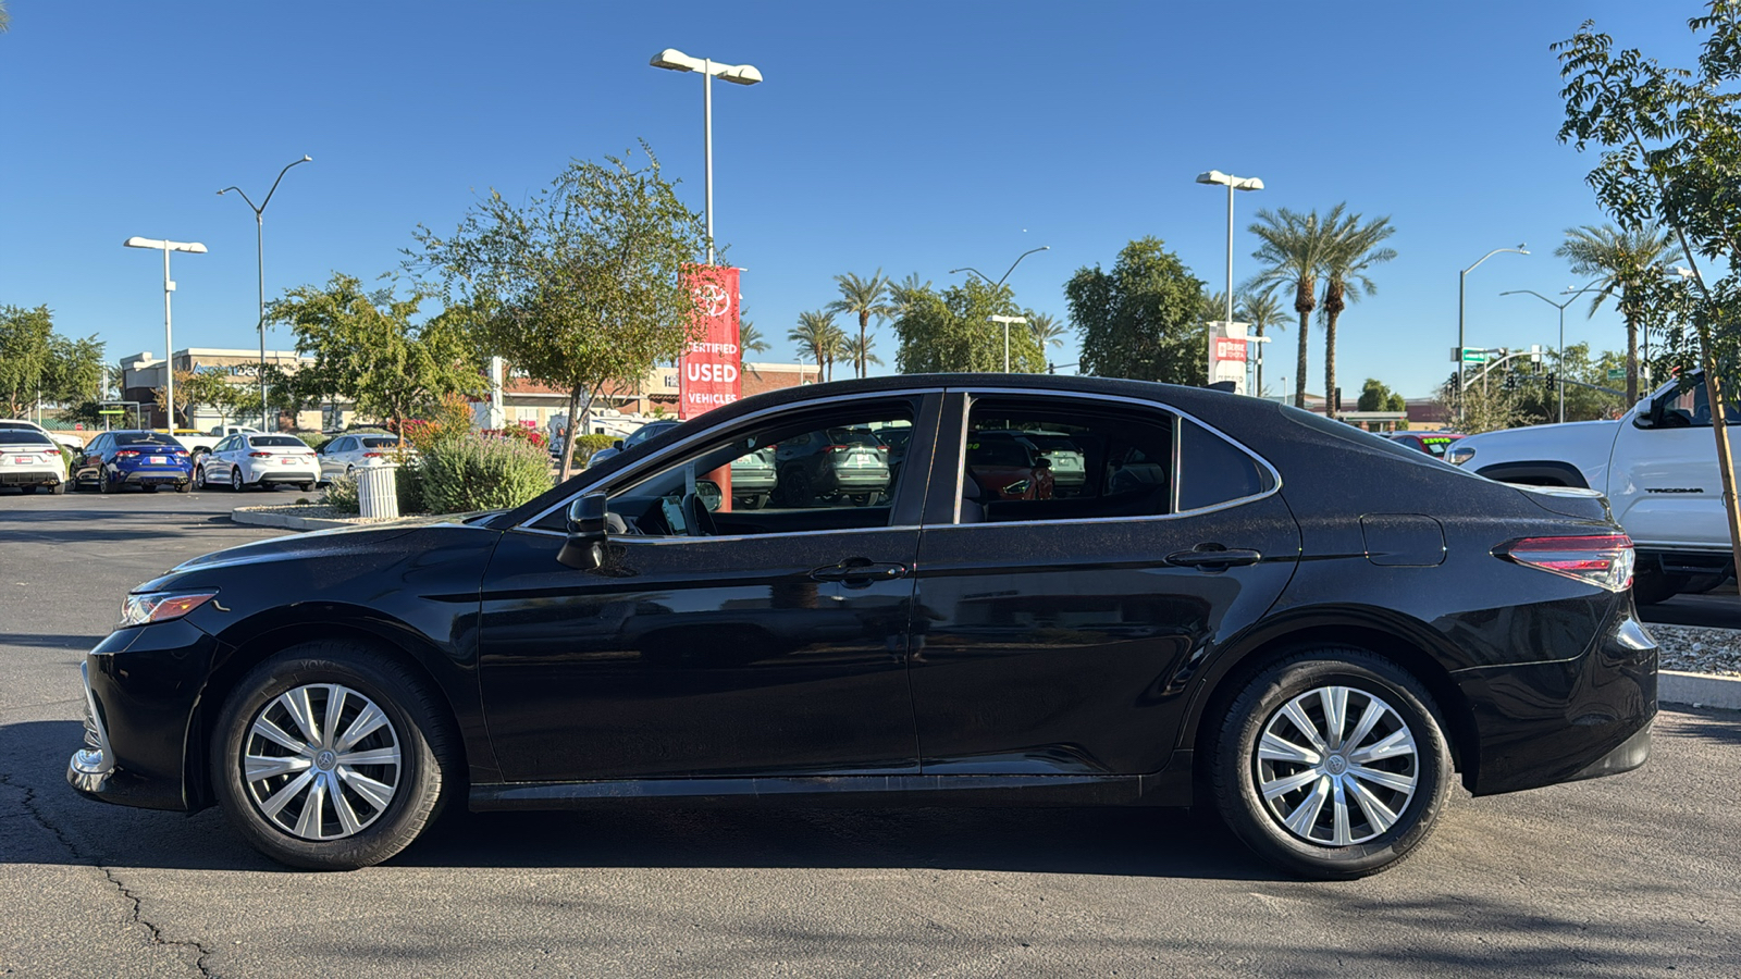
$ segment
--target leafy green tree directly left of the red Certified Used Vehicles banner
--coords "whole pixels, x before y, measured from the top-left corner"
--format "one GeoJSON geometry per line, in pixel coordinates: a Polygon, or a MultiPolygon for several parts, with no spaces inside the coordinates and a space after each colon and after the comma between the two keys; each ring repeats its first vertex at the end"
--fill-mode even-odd
{"type": "Polygon", "coordinates": [[[575,160],[524,206],[491,192],[451,235],[416,233],[411,265],[460,298],[487,354],[568,392],[576,430],[599,388],[676,361],[702,331],[686,280],[705,244],[702,216],[642,152],[644,165],[575,160]]]}

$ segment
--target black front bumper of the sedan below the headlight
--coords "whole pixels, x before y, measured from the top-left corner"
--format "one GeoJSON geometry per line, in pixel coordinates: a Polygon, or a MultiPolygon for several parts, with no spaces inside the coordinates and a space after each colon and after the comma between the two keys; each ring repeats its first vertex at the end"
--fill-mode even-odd
{"type": "Polygon", "coordinates": [[[66,782],[115,805],[198,808],[190,739],[216,650],[216,639],[179,618],[118,629],[91,650],[80,664],[85,746],[68,760],[66,782]]]}

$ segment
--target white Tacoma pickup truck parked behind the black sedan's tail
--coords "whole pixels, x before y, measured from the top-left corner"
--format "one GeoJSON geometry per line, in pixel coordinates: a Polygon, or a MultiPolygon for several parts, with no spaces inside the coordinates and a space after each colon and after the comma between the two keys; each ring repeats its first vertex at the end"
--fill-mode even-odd
{"type": "MultiPolygon", "coordinates": [[[[1741,427],[1736,406],[1729,423],[1741,427]]],[[[1736,432],[1731,439],[1741,449],[1736,432]]],[[[1469,435],[1445,458],[1501,483],[1600,490],[1637,547],[1640,604],[1710,591],[1734,573],[1704,383],[1668,383],[1614,422],[1469,435]]]]}

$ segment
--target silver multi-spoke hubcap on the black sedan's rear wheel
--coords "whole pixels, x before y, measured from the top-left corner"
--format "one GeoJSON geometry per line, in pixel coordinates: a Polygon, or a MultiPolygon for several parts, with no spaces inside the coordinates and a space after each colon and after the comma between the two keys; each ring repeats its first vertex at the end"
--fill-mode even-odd
{"type": "Polygon", "coordinates": [[[1320,686],[1264,723],[1252,779],[1283,829],[1349,847],[1396,824],[1419,784],[1421,758],[1395,707],[1353,686],[1320,686]]]}

